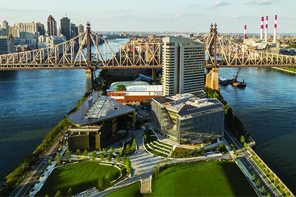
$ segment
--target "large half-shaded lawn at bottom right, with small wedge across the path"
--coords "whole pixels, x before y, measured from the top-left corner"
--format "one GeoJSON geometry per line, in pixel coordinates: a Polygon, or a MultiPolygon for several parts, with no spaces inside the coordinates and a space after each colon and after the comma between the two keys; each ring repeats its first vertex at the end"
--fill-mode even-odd
{"type": "MultiPolygon", "coordinates": [[[[155,177],[154,177],[155,178],[155,177]]],[[[151,194],[140,194],[134,183],[109,196],[145,197],[257,197],[234,162],[191,162],[171,165],[152,182],[151,194]]]]}

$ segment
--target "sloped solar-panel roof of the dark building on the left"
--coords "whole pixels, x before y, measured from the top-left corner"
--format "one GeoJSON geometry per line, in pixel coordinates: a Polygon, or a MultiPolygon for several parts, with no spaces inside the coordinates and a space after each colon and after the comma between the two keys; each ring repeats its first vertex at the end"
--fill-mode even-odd
{"type": "Polygon", "coordinates": [[[135,109],[116,102],[116,99],[100,97],[102,92],[92,92],[79,106],[79,110],[67,118],[77,126],[92,125],[135,109]]]}

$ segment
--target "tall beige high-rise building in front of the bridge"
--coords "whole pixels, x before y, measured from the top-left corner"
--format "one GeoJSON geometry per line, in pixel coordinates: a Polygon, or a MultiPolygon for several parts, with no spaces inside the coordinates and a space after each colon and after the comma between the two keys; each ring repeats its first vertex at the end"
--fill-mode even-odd
{"type": "Polygon", "coordinates": [[[162,38],[162,95],[202,90],[205,44],[187,38],[162,38]]]}

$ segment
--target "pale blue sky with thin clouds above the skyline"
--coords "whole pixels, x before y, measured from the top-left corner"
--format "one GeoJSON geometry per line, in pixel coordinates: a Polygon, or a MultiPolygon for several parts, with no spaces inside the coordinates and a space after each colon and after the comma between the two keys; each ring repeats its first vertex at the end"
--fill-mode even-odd
{"type": "MultiPolygon", "coordinates": [[[[96,31],[260,33],[261,17],[268,16],[268,33],[296,33],[296,0],[2,0],[0,21],[40,22],[52,15],[96,31]]],[[[2,25],[2,24],[1,24],[2,25]]],[[[265,30],[264,30],[265,32],[265,30]]]]}

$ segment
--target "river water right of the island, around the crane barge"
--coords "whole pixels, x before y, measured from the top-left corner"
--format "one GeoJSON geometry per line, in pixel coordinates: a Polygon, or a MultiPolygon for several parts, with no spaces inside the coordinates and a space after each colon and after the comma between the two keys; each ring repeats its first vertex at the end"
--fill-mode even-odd
{"type": "MultiPolygon", "coordinates": [[[[231,79],[237,68],[219,68],[231,79]]],[[[242,68],[247,87],[221,86],[223,98],[256,142],[255,151],[296,194],[296,74],[275,68],[242,68]]]]}

